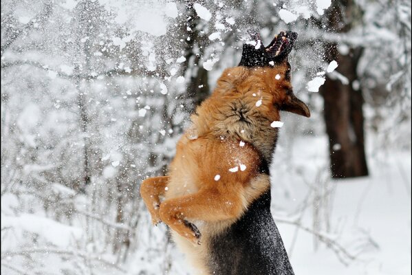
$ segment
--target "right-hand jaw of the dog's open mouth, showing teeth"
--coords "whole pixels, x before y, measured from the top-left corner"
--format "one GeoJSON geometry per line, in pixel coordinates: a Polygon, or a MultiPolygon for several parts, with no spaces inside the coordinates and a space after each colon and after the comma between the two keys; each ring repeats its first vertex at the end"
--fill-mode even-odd
{"type": "Polygon", "coordinates": [[[274,39],[268,47],[265,47],[265,54],[268,58],[277,58],[278,56],[288,55],[292,51],[294,41],[298,35],[296,32],[281,32],[274,36],[274,39]]]}

